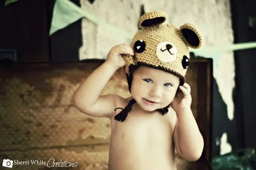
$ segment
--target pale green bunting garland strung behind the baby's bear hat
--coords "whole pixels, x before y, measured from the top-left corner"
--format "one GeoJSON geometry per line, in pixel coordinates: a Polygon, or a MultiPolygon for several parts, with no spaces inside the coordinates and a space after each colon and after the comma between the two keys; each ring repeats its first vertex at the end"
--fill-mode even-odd
{"type": "MultiPolygon", "coordinates": [[[[104,28],[109,29],[111,31],[115,31],[115,33],[122,34],[129,39],[132,39],[133,35],[112,26],[109,23],[93,16],[87,11],[82,10],[79,6],[71,2],[70,0],[56,0],[53,17],[52,17],[52,25],[50,30],[50,35],[54,34],[56,31],[65,28],[66,26],[74,23],[75,21],[85,17],[87,20],[91,22],[104,26],[104,28]]],[[[190,49],[191,52],[195,53],[195,55],[203,56],[206,58],[215,59],[214,63],[218,62],[218,57],[221,53],[225,51],[235,51],[235,50],[244,50],[249,48],[256,48],[256,42],[245,42],[238,44],[227,44],[221,46],[211,46],[211,47],[201,47],[199,49],[190,49]]],[[[215,67],[216,64],[214,64],[215,67]]]]}

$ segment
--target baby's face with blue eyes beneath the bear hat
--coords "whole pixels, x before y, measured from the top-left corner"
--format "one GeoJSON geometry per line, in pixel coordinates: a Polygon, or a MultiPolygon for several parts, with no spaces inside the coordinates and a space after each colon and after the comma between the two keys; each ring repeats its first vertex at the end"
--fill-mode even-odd
{"type": "Polygon", "coordinates": [[[155,68],[140,66],[134,71],[131,95],[145,111],[165,108],[175,97],[179,77],[155,68]]]}

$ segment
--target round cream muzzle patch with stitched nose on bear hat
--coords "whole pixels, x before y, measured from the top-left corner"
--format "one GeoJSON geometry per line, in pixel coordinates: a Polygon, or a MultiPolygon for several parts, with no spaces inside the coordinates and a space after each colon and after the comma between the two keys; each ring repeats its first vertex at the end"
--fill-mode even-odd
{"type": "Polygon", "coordinates": [[[177,48],[172,42],[161,42],[157,45],[157,57],[162,62],[172,62],[177,57],[177,48]]]}

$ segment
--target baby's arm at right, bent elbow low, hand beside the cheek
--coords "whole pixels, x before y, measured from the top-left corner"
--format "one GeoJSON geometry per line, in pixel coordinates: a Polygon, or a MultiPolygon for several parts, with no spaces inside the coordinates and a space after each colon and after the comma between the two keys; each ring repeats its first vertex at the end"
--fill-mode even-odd
{"type": "Polygon", "coordinates": [[[190,86],[185,83],[179,88],[183,93],[171,103],[177,115],[173,132],[175,148],[183,159],[196,161],[201,157],[204,139],[190,108],[190,86]]]}

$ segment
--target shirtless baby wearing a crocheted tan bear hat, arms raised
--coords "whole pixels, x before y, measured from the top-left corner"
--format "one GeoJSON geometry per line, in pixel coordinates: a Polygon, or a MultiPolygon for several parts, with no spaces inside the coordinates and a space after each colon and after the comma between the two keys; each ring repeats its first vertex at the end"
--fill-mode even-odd
{"type": "Polygon", "coordinates": [[[81,112],[111,121],[109,170],[176,170],[175,149],[188,161],[200,158],[203,137],[191,111],[185,81],[189,48],[199,48],[197,29],[163,23],[166,13],[140,17],[130,45],[114,46],[106,61],[80,85],[74,103],[81,112]],[[131,97],[101,96],[113,74],[125,68],[131,97]]]}

